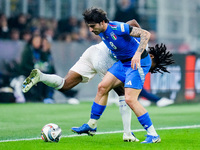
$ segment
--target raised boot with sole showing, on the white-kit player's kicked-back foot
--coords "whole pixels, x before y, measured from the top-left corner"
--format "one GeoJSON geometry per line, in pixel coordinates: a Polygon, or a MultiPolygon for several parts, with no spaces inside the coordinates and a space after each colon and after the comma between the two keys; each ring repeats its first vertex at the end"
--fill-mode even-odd
{"type": "Polygon", "coordinates": [[[33,85],[37,84],[40,81],[40,73],[39,69],[33,69],[31,74],[24,80],[22,84],[22,92],[28,92],[33,85]]]}

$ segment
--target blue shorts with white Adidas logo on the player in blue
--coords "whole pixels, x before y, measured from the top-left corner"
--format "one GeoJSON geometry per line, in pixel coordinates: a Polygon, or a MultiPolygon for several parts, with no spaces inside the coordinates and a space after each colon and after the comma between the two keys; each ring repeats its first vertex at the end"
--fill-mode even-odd
{"type": "Polygon", "coordinates": [[[116,62],[108,71],[116,78],[124,83],[126,88],[142,89],[145,81],[145,76],[151,68],[151,58],[147,57],[141,59],[141,68],[133,70],[131,68],[131,61],[122,63],[116,62]]]}

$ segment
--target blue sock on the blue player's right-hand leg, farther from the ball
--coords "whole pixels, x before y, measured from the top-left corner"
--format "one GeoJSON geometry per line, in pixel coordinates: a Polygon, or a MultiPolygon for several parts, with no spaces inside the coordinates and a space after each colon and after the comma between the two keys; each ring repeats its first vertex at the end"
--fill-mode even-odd
{"type": "Polygon", "coordinates": [[[144,127],[145,130],[147,130],[152,125],[151,118],[149,117],[148,112],[146,114],[138,117],[138,121],[144,127]]]}

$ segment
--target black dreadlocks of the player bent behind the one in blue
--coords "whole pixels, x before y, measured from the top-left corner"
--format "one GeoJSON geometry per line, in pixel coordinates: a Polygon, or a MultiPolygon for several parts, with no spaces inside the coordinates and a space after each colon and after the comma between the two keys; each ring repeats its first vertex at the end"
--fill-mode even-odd
{"type": "Polygon", "coordinates": [[[153,61],[156,64],[149,72],[169,73],[166,66],[173,64],[175,61],[172,59],[172,53],[167,51],[167,47],[163,43],[161,45],[156,44],[155,47],[149,47],[149,54],[154,56],[153,61]]]}

